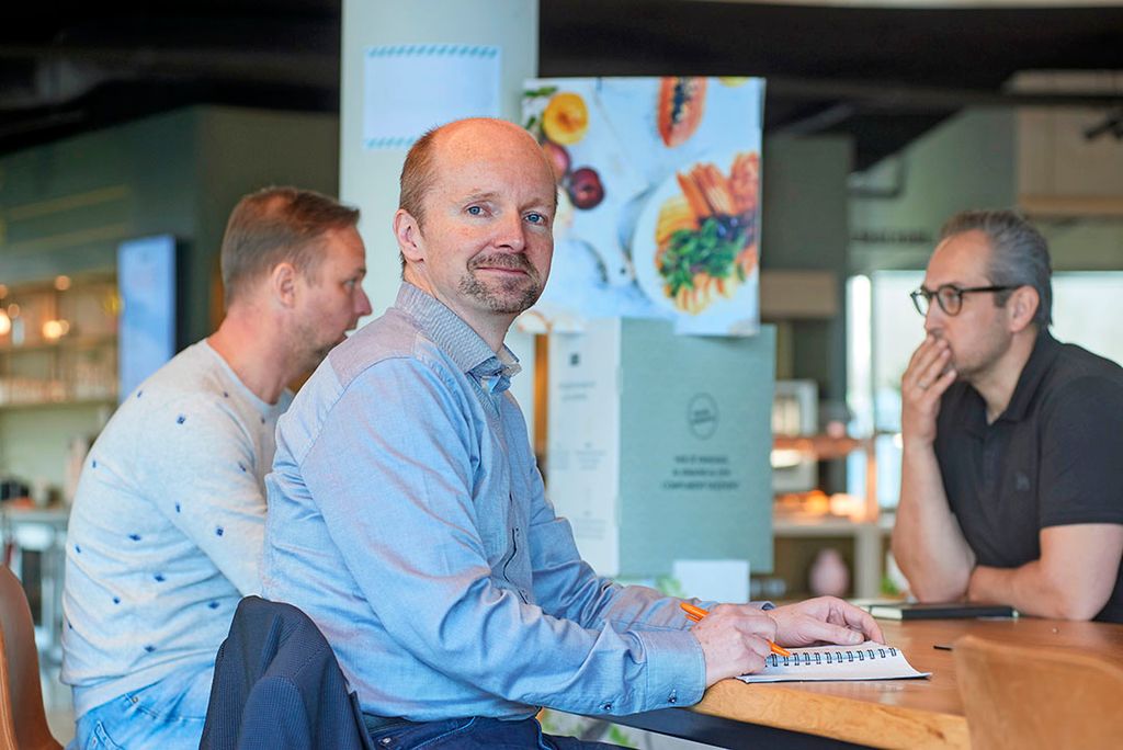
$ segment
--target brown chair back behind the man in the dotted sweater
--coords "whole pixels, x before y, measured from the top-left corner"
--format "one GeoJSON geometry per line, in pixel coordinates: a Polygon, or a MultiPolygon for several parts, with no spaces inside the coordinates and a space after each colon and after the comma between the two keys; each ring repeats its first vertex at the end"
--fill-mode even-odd
{"type": "Polygon", "coordinates": [[[0,565],[0,750],[60,750],[47,728],[31,610],[11,568],[0,565]]]}

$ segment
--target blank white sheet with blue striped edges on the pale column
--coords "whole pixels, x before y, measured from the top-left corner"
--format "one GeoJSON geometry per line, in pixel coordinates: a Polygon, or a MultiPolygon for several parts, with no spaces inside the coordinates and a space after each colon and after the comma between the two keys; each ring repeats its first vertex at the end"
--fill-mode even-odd
{"type": "Polygon", "coordinates": [[[401,44],[367,47],[363,147],[409,148],[437,125],[500,116],[500,48],[401,44]]]}

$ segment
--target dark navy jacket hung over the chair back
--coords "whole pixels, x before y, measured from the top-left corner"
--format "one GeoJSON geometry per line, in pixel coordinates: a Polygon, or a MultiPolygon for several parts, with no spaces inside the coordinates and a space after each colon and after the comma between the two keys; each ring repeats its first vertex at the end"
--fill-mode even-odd
{"type": "Polygon", "coordinates": [[[247,596],[218,650],[200,750],[372,750],[358,701],[307,614],[247,596]]]}

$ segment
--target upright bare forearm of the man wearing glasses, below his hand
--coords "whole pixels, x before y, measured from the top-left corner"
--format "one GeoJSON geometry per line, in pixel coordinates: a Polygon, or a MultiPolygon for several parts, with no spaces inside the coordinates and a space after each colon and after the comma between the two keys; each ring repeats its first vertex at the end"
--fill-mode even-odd
{"type": "Polygon", "coordinates": [[[948,507],[931,446],[905,446],[893,555],[917,598],[951,601],[967,593],[975,556],[948,507]]]}

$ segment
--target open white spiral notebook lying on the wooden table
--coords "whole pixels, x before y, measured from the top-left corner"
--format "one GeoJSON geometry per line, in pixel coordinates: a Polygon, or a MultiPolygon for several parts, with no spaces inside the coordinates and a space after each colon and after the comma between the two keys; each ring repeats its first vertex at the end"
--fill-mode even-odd
{"type": "Polygon", "coordinates": [[[932,674],[913,669],[901,649],[874,641],[861,646],[814,646],[788,650],[792,656],[773,653],[765,659],[764,669],[741,675],[738,679],[746,683],[906,679],[932,674]]]}

